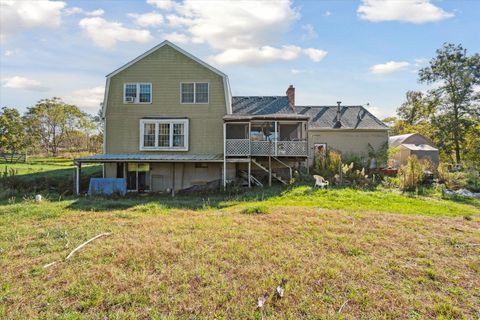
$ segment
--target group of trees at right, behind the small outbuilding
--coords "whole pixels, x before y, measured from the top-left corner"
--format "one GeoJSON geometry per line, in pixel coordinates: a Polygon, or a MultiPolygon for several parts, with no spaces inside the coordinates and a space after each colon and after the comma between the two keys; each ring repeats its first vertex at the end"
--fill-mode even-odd
{"type": "Polygon", "coordinates": [[[480,55],[445,43],[418,72],[426,92],[409,91],[397,115],[384,119],[391,135],[420,133],[445,162],[480,166],[480,55]]]}

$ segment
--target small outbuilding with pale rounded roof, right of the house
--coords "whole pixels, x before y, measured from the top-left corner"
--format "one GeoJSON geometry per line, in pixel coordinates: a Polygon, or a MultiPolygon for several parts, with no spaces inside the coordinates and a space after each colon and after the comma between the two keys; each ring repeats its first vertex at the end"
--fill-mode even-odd
{"type": "Polygon", "coordinates": [[[392,156],[394,166],[399,167],[408,161],[408,157],[416,156],[419,160],[429,159],[435,165],[439,163],[438,149],[428,138],[418,133],[392,136],[388,139],[390,148],[398,148],[398,152],[392,156]]]}

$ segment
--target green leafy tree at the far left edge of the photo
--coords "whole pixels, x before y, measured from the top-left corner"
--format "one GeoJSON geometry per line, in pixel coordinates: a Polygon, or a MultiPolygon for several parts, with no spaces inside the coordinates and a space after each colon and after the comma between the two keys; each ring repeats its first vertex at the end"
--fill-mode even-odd
{"type": "Polygon", "coordinates": [[[27,146],[25,125],[15,108],[0,111],[0,152],[18,153],[27,146]]]}

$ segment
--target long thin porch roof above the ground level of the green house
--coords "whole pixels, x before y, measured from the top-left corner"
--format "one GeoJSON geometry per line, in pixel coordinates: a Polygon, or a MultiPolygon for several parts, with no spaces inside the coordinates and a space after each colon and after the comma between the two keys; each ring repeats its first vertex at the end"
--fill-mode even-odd
{"type": "Polygon", "coordinates": [[[221,154],[145,154],[109,153],[74,159],[75,163],[88,162],[222,162],[221,154]]]}

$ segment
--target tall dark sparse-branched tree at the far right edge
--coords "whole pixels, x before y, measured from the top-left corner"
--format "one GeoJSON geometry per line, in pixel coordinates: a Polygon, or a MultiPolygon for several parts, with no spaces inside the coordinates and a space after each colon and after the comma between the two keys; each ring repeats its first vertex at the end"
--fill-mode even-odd
{"type": "Polygon", "coordinates": [[[442,134],[443,146],[451,146],[456,162],[461,162],[466,133],[480,117],[475,93],[480,85],[480,55],[467,56],[461,45],[445,43],[429,66],[419,71],[419,81],[436,86],[430,91],[439,102],[432,122],[442,134]]]}

